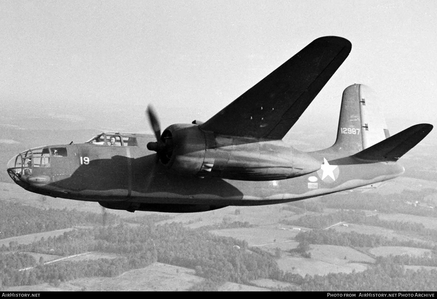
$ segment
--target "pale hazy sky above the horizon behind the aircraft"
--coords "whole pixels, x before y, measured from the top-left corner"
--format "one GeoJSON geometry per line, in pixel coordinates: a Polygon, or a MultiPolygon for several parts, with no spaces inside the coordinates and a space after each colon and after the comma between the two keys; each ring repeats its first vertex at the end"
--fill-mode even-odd
{"type": "Polygon", "coordinates": [[[0,109],[133,132],[149,131],[149,103],[163,127],[206,121],[315,38],[338,35],[352,51],[299,122],[336,132],[343,89],[364,83],[387,118],[433,123],[436,20],[431,0],[2,0],[0,109]]]}

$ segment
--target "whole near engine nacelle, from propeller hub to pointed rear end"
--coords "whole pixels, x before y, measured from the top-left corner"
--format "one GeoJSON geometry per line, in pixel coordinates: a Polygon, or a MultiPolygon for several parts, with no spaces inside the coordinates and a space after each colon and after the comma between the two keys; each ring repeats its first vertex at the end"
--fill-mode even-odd
{"type": "Polygon", "coordinates": [[[147,148],[170,172],[184,176],[272,181],[309,174],[321,165],[281,140],[215,136],[194,124],[170,125],[147,148]]]}

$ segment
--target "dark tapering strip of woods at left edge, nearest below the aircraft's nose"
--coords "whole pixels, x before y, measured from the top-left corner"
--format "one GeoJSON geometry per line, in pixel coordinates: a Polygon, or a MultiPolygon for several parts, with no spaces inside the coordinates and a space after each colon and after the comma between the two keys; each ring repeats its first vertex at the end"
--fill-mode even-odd
{"type": "MultiPolygon", "coordinates": [[[[108,213],[107,224],[115,223],[117,217],[108,213]]],[[[74,209],[43,210],[19,203],[0,201],[0,239],[101,223],[102,215],[98,213],[79,212],[74,209]]]]}

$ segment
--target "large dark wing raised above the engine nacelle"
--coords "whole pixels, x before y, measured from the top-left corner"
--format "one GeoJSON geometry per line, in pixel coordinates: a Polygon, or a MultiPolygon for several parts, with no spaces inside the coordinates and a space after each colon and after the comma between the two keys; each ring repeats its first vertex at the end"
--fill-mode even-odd
{"type": "Polygon", "coordinates": [[[349,55],[345,38],[317,38],[200,127],[230,136],[282,139],[349,55]]]}

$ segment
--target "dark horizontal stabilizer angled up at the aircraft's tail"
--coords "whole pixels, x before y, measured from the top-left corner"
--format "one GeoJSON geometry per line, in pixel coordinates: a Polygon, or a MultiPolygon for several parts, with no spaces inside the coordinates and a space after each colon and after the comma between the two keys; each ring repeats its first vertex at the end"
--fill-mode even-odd
{"type": "Polygon", "coordinates": [[[433,125],[413,125],[381,142],[362,150],[353,157],[372,161],[397,161],[416,146],[433,129],[433,125]]]}

